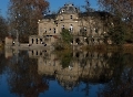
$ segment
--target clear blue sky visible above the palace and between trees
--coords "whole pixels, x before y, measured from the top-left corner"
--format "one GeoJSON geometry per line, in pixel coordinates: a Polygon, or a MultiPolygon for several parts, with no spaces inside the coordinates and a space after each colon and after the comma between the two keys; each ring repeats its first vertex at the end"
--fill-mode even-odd
{"type": "MultiPolygon", "coordinates": [[[[7,17],[8,4],[10,0],[1,0],[0,3],[0,14],[4,18],[7,17]]],[[[58,11],[65,3],[74,3],[75,7],[81,7],[85,4],[85,0],[48,0],[50,2],[50,11],[58,11]]],[[[99,9],[96,4],[96,0],[90,0],[91,7],[94,9],[99,9]]]]}

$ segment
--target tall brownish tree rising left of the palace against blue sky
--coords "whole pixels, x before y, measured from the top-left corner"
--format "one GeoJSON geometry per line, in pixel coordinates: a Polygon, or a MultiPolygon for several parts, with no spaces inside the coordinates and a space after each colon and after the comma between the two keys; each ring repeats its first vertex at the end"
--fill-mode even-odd
{"type": "Polygon", "coordinates": [[[13,32],[18,30],[20,41],[28,42],[28,36],[37,34],[38,20],[48,12],[45,0],[10,0],[9,19],[13,32]]]}

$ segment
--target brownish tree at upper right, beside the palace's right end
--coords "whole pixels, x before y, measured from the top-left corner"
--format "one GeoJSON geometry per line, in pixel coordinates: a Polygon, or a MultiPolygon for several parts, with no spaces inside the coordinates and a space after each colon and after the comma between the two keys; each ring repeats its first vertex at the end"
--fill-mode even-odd
{"type": "MultiPolygon", "coordinates": [[[[98,0],[102,10],[112,13],[115,18],[120,18],[126,31],[125,42],[133,43],[133,1],[132,0],[98,0]]],[[[117,25],[117,28],[120,24],[117,25]]]]}

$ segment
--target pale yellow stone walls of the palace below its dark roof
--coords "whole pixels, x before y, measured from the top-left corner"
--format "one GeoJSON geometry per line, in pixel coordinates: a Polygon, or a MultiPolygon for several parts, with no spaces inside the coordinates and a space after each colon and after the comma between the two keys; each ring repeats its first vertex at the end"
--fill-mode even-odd
{"type": "MultiPolygon", "coordinates": [[[[70,7],[72,7],[70,4],[70,7]]],[[[95,13],[94,13],[95,14],[95,13]]],[[[39,21],[39,35],[47,36],[51,35],[49,41],[45,41],[49,45],[57,42],[52,36],[59,35],[62,32],[62,28],[70,30],[72,28],[72,33],[75,37],[79,36],[81,44],[102,44],[104,34],[108,32],[108,29],[104,26],[103,21],[100,15],[89,15],[89,17],[79,17],[79,12],[61,12],[58,13],[55,19],[43,19],[39,21]],[[86,31],[85,35],[80,32],[81,29],[86,31]],[[82,36],[82,37],[81,37],[82,36]],[[88,37],[89,42],[83,42],[83,39],[88,37]]],[[[111,43],[111,42],[110,42],[111,43]]],[[[75,43],[76,44],[76,43],[75,43]]],[[[73,45],[74,41],[73,41],[73,45]]]]}

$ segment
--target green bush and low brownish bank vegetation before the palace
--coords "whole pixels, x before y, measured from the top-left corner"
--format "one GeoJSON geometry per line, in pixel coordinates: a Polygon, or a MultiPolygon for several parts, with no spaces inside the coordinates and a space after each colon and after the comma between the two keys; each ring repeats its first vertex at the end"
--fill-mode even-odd
{"type": "MultiPolygon", "coordinates": [[[[113,37],[114,39],[114,42],[112,44],[99,44],[99,45],[76,45],[75,46],[75,50],[82,50],[82,51],[125,51],[125,52],[130,52],[130,51],[133,51],[133,44],[132,43],[125,43],[125,40],[124,40],[124,32],[121,32],[123,29],[121,28],[116,28],[116,31],[121,33],[120,36],[117,37],[113,37]],[[123,40],[122,40],[123,39],[123,40]]],[[[113,33],[113,32],[112,32],[113,33]]],[[[115,34],[115,32],[114,32],[115,34]]],[[[116,35],[119,35],[116,33],[116,35]]],[[[110,36],[113,36],[112,34],[110,36]]],[[[69,30],[66,29],[63,29],[62,32],[61,32],[61,37],[60,40],[58,40],[57,44],[54,45],[55,50],[57,51],[73,51],[73,46],[71,45],[71,42],[73,40],[73,35],[70,34],[69,30]]]]}

